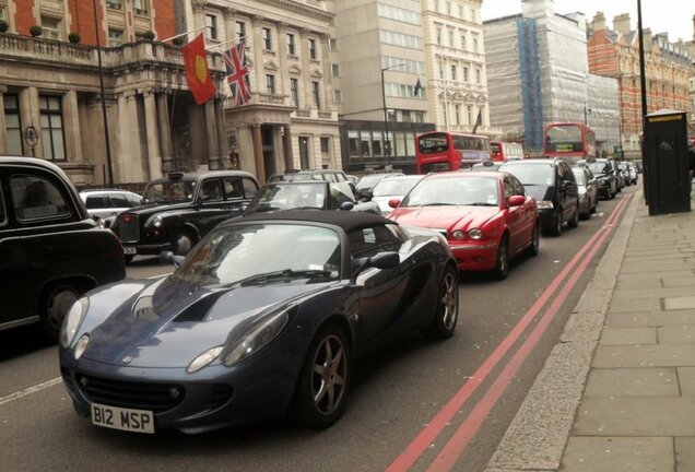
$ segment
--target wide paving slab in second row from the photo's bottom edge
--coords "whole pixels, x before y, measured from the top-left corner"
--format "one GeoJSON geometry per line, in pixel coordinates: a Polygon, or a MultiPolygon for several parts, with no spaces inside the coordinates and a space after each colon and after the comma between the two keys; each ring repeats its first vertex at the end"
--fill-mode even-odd
{"type": "Polygon", "coordinates": [[[695,436],[693,418],[693,397],[589,397],[573,436],[695,436]]]}

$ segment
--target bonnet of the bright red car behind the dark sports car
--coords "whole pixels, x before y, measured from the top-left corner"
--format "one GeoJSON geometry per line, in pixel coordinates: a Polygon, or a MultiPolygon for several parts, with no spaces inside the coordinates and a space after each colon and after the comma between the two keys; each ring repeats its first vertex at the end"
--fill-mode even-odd
{"type": "Polygon", "coordinates": [[[466,229],[485,225],[498,212],[497,206],[399,206],[389,219],[409,226],[466,229]]]}

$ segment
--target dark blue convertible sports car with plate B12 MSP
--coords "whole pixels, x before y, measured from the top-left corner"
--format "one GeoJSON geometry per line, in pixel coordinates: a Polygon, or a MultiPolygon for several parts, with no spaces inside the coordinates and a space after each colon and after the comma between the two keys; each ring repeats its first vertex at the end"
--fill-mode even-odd
{"type": "Polygon", "coordinates": [[[457,324],[446,241],[370,213],[257,213],[170,259],[172,275],[93,291],[63,324],[63,385],[94,425],[202,433],[292,412],[328,427],[358,356],[457,324]]]}

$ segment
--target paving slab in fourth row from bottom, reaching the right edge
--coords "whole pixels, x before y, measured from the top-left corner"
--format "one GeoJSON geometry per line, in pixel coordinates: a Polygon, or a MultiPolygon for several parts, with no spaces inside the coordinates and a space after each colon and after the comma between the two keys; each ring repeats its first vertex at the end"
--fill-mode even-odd
{"type": "Polygon", "coordinates": [[[695,349],[692,344],[599,344],[592,367],[695,367],[695,349]]]}

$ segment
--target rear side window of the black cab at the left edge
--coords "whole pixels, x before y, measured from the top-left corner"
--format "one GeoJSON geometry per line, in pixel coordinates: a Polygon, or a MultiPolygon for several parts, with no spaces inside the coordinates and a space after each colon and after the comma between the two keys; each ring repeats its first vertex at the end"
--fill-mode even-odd
{"type": "Polygon", "coordinates": [[[37,175],[10,177],[14,212],[20,221],[56,219],[70,215],[70,206],[56,185],[37,175]]]}

